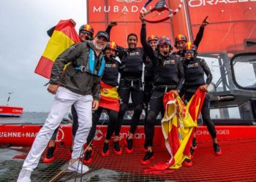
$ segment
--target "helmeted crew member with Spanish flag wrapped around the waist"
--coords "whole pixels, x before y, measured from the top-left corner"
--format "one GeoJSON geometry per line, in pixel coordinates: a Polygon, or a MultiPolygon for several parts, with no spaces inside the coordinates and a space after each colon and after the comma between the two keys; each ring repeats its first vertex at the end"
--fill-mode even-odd
{"type": "Polygon", "coordinates": [[[96,133],[97,123],[99,121],[99,117],[102,114],[103,109],[105,109],[109,116],[109,124],[108,130],[106,133],[106,138],[104,141],[103,149],[101,152],[102,157],[107,157],[110,154],[109,150],[109,141],[113,132],[115,132],[115,138],[113,141],[114,152],[117,155],[122,154],[122,149],[119,146],[119,132],[120,132],[120,122],[118,121],[118,111],[119,111],[119,102],[118,102],[118,71],[120,68],[120,63],[116,60],[116,56],[118,55],[118,45],[114,41],[109,41],[107,46],[105,47],[105,71],[102,76],[101,84],[101,98],[99,100],[99,108],[97,111],[94,111],[92,114],[92,127],[89,132],[89,136],[87,138],[88,150],[86,151],[84,157],[84,163],[89,164],[92,162],[92,140],[94,139],[94,135],[96,133]],[[111,95],[111,98],[107,98],[107,96],[111,95]]]}

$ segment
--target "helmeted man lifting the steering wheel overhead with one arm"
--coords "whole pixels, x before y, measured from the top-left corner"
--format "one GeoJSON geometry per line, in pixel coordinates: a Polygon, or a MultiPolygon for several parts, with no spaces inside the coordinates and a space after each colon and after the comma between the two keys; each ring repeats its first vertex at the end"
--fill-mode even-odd
{"type": "Polygon", "coordinates": [[[165,36],[159,38],[157,41],[157,52],[154,52],[152,47],[147,43],[146,22],[143,20],[143,17],[143,13],[140,14],[140,20],[143,22],[140,31],[140,41],[146,55],[151,59],[154,66],[154,89],[148,104],[145,129],[145,146],[147,147],[147,151],[145,157],[140,160],[142,165],[147,165],[154,157],[154,152],[152,150],[154,123],[159,111],[164,113],[163,97],[165,92],[173,92],[174,95],[178,95],[184,82],[184,72],[181,60],[178,56],[170,54],[173,47],[170,44],[169,38],[165,36]]]}

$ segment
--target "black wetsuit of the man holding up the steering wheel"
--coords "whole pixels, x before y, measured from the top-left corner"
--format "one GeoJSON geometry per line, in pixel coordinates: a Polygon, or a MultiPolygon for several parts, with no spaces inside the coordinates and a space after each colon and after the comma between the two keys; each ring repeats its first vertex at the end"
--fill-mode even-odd
{"type": "Polygon", "coordinates": [[[154,66],[154,89],[148,104],[146,118],[146,143],[145,146],[153,145],[154,123],[159,111],[164,111],[163,97],[170,90],[181,90],[184,82],[184,72],[181,60],[176,55],[159,55],[154,52],[146,41],[146,25],[143,24],[140,31],[141,44],[154,66]]]}

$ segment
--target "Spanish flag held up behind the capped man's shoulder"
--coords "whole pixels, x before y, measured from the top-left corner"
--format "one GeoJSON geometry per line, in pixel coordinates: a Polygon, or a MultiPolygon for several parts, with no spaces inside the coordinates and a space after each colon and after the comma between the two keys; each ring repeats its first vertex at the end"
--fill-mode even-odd
{"type": "Polygon", "coordinates": [[[51,68],[56,58],[72,44],[78,42],[80,39],[74,25],[69,20],[61,20],[56,25],[34,72],[50,79],[51,68]]]}

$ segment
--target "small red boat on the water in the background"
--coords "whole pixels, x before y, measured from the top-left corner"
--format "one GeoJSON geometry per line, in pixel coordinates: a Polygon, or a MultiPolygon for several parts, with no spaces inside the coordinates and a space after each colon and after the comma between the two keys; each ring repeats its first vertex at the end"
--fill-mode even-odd
{"type": "Polygon", "coordinates": [[[9,97],[7,99],[7,106],[0,106],[1,117],[20,117],[23,113],[23,108],[18,106],[8,106],[10,101],[10,95],[12,92],[8,92],[9,97]]]}

